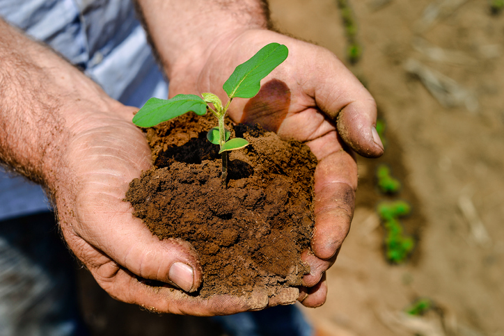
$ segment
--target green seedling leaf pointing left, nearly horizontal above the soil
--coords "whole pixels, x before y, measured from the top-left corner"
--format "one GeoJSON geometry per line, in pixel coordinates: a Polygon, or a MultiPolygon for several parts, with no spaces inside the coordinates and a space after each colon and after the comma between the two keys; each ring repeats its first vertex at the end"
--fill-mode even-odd
{"type": "Polygon", "coordinates": [[[152,127],[189,111],[205,115],[207,103],[197,95],[176,95],[171,99],[150,98],[133,117],[133,123],[140,127],[152,127]]]}

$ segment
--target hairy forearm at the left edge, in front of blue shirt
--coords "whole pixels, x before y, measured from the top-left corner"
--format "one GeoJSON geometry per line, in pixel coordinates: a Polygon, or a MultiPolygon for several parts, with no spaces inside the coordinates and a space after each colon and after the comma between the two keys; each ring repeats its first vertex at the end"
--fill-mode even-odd
{"type": "Polygon", "coordinates": [[[107,97],[51,49],[0,19],[0,160],[51,184],[72,129],[107,97]]]}

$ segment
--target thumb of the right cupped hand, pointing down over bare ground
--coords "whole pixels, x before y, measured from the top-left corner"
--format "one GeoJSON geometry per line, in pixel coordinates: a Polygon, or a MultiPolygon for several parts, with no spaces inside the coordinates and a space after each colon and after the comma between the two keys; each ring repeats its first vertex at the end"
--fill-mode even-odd
{"type": "Polygon", "coordinates": [[[315,65],[313,97],[333,121],[343,141],[364,157],[379,157],[384,147],[376,131],[375,99],[341,61],[326,49],[319,49],[324,62],[315,65]],[[326,74],[337,74],[327,76],[326,74]]]}

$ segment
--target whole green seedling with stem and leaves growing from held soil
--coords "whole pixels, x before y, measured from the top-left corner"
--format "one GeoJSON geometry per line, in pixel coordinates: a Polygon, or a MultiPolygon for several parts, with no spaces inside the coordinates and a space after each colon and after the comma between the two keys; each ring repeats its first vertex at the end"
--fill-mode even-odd
{"type": "Polygon", "coordinates": [[[270,43],[260,49],[249,61],[238,65],[222,87],[228,95],[226,105],[223,105],[221,99],[213,93],[202,93],[201,97],[176,95],[171,99],[150,98],[136,113],[133,122],[139,127],[152,127],[189,111],[197,115],[205,115],[207,111],[212,111],[218,120],[218,126],[208,131],[207,139],[214,145],[219,145],[219,154],[222,155],[222,184],[226,186],[228,152],[249,145],[244,138],[229,139],[230,131],[224,126],[228,107],[235,97],[252,98],[257,95],[261,79],[285,61],[287,56],[288,49],[285,45],[270,43]]]}

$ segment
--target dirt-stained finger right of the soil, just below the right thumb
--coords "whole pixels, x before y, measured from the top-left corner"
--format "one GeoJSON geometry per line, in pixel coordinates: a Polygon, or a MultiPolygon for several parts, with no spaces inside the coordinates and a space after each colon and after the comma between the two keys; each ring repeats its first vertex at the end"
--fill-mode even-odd
{"type": "Polygon", "coordinates": [[[312,250],[330,259],[347,237],[354,214],[357,187],[356,162],[340,150],[322,159],[315,169],[315,230],[312,250]]]}

